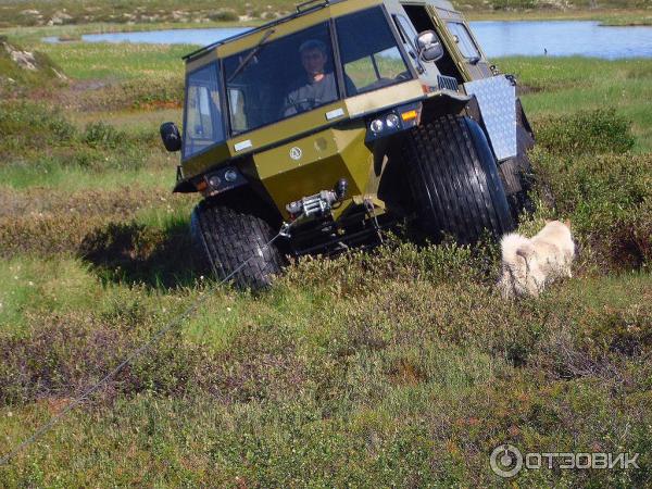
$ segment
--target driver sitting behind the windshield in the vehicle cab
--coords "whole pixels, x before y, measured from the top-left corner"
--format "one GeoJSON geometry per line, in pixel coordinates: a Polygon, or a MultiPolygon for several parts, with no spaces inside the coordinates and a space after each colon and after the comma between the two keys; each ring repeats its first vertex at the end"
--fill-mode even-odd
{"type": "Polygon", "coordinates": [[[324,73],[328,61],[326,45],[310,39],[299,47],[305,77],[294,83],[286,96],[283,115],[288,117],[337,99],[337,83],[333,72],[324,73]]]}

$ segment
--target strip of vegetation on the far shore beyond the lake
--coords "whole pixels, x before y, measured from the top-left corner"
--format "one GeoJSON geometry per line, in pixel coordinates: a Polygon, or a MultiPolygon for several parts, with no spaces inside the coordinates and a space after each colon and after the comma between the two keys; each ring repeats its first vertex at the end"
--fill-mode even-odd
{"type": "MultiPolygon", "coordinates": [[[[461,0],[455,7],[472,18],[598,18],[613,25],[652,23],[649,0],[461,0]]],[[[0,2],[0,28],[76,26],[104,23],[125,28],[161,23],[214,24],[274,20],[294,11],[293,0],[49,0],[0,2]]]]}

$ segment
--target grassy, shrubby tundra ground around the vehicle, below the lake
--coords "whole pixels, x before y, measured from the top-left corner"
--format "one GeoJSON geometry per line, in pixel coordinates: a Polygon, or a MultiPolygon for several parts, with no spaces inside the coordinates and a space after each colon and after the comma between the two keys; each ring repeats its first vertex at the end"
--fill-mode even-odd
{"type": "MultiPolygon", "coordinates": [[[[45,5],[64,4],[76,18],[45,5]]],[[[158,126],[180,118],[189,47],[18,40],[0,49],[0,452],[209,297],[3,486],[487,486],[503,442],[640,453],[519,486],[652,484],[652,61],[497,60],[539,138],[521,231],[570,218],[579,248],[541,298],[500,298],[496,244],[401,230],[252,294],[201,275],[197,199],[170,193],[158,126]]]]}

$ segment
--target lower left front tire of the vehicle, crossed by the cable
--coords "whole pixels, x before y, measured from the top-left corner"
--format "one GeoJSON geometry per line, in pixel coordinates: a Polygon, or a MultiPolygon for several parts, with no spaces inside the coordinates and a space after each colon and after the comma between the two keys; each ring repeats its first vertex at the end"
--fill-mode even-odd
{"type": "Polygon", "coordinates": [[[276,233],[266,220],[241,204],[203,200],[192,211],[190,231],[196,252],[220,279],[249,259],[231,280],[256,290],[269,286],[272,276],[281,269],[283,256],[276,244],[265,248],[276,233]]]}

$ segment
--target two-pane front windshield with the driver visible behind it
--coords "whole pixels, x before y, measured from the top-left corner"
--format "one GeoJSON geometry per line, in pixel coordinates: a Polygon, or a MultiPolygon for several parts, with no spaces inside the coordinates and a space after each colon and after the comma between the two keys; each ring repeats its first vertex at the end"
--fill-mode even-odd
{"type": "Polygon", "coordinates": [[[260,34],[256,47],[224,59],[233,136],[331,103],[341,92],[352,97],[412,78],[380,8],[339,17],[336,28],[341,70],[326,22],[272,41],[260,34]]]}

